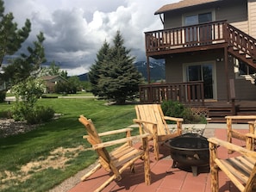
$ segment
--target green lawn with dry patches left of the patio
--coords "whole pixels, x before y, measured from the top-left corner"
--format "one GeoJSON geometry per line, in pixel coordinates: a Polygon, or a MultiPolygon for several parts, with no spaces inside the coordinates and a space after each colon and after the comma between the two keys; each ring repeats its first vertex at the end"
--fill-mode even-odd
{"type": "MultiPolygon", "coordinates": [[[[95,152],[84,150],[90,145],[82,139],[85,130],[78,122],[78,116],[84,115],[91,118],[99,133],[127,127],[135,118],[134,105],[107,106],[104,102],[92,98],[40,99],[39,104],[51,106],[56,113],[62,115],[58,120],[41,125],[28,133],[0,139],[0,190],[3,192],[47,191],[66,178],[72,177],[78,170],[83,170],[94,163],[97,159],[95,152]],[[83,146],[83,150],[75,153],[68,152],[64,155],[69,158],[65,163],[65,169],[48,167],[36,171],[41,168],[39,165],[29,172],[30,177],[21,171],[22,166],[29,162],[42,162],[54,149],[78,146],[83,146]],[[5,181],[8,173],[18,179],[5,181]]],[[[11,106],[12,104],[0,104],[0,112],[11,106]]]]}

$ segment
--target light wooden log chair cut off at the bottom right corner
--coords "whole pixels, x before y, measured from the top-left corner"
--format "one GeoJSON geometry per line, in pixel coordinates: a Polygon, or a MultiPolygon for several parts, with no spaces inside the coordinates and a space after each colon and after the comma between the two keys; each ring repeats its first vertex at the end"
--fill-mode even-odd
{"type": "MultiPolygon", "coordinates": [[[[253,134],[253,136],[255,136],[253,134]]],[[[250,133],[247,134],[250,137],[250,133]]],[[[219,191],[219,171],[222,170],[234,185],[242,192],[256,191],[256,152],[236,146],[227,141],[209,138],[209,164],[211,174],[211,191],[219,191]],[[217,156],[217,149],[223,146],[228,150],[239,152],[241,156],[222,159],[217,156]]],[[[222,149],[220,149],[222,150],[222,149]]]]}

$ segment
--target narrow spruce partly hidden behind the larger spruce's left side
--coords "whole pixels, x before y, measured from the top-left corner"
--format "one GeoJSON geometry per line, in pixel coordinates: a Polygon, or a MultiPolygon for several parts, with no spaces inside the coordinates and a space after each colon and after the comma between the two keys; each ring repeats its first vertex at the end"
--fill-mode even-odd
{"type": "Polygon", "coordinates": [[[91,83],[91,92],[94,96],[102,96],[102,91],[98,89],[98,81],[101,75],[101,68],[104,62],[107,62],[109,57],[109,43],[105,40],[103,46],[97,53],[97,60],[94,65],[91,65],[88,73],[89,81],[91,83]]]}

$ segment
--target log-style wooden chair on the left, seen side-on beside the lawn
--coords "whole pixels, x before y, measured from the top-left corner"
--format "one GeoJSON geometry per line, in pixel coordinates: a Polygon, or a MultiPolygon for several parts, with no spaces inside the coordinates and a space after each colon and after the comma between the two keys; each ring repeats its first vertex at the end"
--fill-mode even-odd
{"type": "Polygon", "coordinates": [[[103,183],[98,189],[95,190],[101,191],[114,179],[120,181],[122,179],[121,174],[123,170],[126,170],[128,167],[130,167],[130,169],[134,171],[134,162],[138,159],[143,159],[145,183],[147,185],[151,183],[147,133],[143,135],[131,136],[131,128],[118,129],[116,131],[109,131],[105,133],[97,133],[97,129],[94,127],[91,120],[86,119],[86,117],[83,115],[80,115],[78,120],[84,124],[84,127],[88,133],[88,135],[84,135],[84,139],[87,139],[91,143],[92,149],[97,152],[99,157],[98,164],[91,171],[86,173],[84,177],[81,178],[82,181],[103,167],[105,170],[112,172],[113,176],[109,177],[105,183],[103,183]],[[100,139],[100,136],[106,136],[115,133],[126,133],[127,137],[123,139],[111,140],[108,142],[103,142],[102,139],[100,139]],[[132,146],[133,141],[137,139],[142,139],[142,150],[136,149],[132,146]],[[112,152],[107,151],[107,146],[114,146],[118,144],[123,145],[117,147],[112,152]]]}

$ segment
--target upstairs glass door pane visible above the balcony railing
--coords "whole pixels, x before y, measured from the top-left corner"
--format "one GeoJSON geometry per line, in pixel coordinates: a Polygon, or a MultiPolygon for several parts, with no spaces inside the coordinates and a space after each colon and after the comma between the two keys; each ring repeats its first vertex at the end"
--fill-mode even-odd
{"type": "Polygon", "coordinates": [[[202,13],[197,15],[187,15],[184,17],[184,25],[197,25],[203,22],[212,22],[211,12],[202,13]]]}

